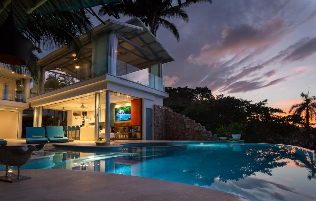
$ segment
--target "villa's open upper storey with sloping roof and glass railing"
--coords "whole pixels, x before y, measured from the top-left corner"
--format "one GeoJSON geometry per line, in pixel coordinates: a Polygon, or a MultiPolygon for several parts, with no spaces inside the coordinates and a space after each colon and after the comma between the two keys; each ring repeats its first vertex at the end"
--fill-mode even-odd
{"type": "Polygon", "coordinates": [[[79,56],[63,47],[40,59],[41,81],[31,86],[32,97],[104,74],[164,92],[162,65],[174,60],[142,21],[109,19],[91,36],[83,36],[79,56]]]}

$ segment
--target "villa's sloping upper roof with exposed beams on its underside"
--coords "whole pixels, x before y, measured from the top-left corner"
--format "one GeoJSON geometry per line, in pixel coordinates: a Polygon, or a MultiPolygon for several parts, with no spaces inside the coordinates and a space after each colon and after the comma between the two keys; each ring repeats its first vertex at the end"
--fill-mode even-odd
{"type": "MultiPolygon", "coordinates": [[[[102,32],[115,33],[119,38],[117,59],[140,69],[148,68],[147,63],[174,61],[170,53],[149,31],[139,18],[126,22],[109,19],[91,30],[92,35],[102,32]]],[[[92,62],[92,41],[87,34],[82,35],[83,58],[92,62]]],[[[59,48],[39,60],[44,69],[58,69],[78,63],[66,47],[59,48]]]]}

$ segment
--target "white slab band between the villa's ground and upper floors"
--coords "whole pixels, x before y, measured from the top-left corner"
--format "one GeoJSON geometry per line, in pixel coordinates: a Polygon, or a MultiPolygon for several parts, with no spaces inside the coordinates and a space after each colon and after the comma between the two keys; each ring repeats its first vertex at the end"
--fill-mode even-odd
{"type": "Polygon", "coordinates": [[[31,107],[45,106],[47,104],[58,103],[58,101],[66,101],[66,99],[73,97],[82,98],[87,96],[87,94],[91,95],[95,92],[104,92],[104,90],[151,100],[155,100],[155,96],[160,96],[162,98],[168,97],[168,93],[166,92],[130,80],[125,80],[111,74],[104,74],[28,98],[27,102],[31,103],[31,107]]]}

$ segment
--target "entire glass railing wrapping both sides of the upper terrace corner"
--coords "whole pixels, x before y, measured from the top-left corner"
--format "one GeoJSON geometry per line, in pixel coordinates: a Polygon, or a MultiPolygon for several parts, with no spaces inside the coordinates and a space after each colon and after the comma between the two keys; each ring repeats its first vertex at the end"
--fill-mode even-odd
{"type": "Polygon", "coordinates": [[[108,74],[144,86],[149,86],[160,91],[165,91],[164,80],[159,76],[149,73],[148,68],[140,69],[118,59],[115,59],[116,62],[112,62],[111,64],[111,62],[109,62],[110,58],[112,57],[109,56],[107,61],[103,57],[95,60],[93,63],[79,63],[78,68],[76,68],[77,65],[75,65],[72,67],[58,68],[59,70],[44,70],[44,75],[42,76],[44,81],[38,84],[32,83],[30,96],[34,97],[42,93],[50,92],[64,86],[106,74],[106,66],[108,66],[108,74]],[[109,68],[113,65],[115,65],[115,68],[109,68]]]}

